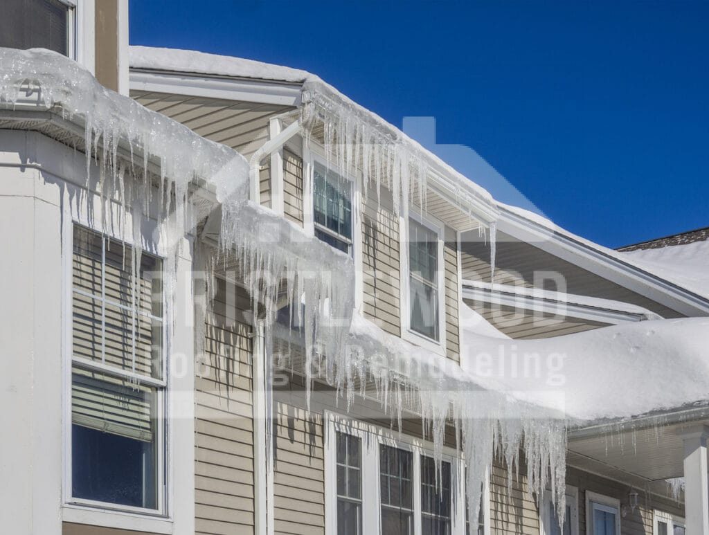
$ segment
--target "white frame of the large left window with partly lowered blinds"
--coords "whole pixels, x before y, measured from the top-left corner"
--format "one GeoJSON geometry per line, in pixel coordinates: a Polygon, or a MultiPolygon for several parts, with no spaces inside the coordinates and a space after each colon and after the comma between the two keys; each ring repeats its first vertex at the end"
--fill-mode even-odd
{"type": "MultiPolygon", "coordinates": [[[[148,531],[155,529],[158,533],[167,532],[165,519],[168,518],[168,498],[169,498],[169,469],[166,467],[171,466],[169,464],[169,436],[171,429],[168,429],[168,418],[167,418],[167,407],[169,406],[169,375],[167,373],[167,355],[168,352],[168,326],[165,318],[164,310],[166,310],[167,303],[165,302],[165,295],[163,290],[163,328],[162,328],[162,379],[149,378],[147,376],[137,375],[130,371],[123,371],[118,368],[113,368],[111,366],[106,366],[101,363],[94,363],[94,361],[86,361],[86,359],[74,359],[72,352],[72,329],[73,329],[73,319],[72,319],[72,294],[73,294],[73,277],[72,277],[72,257],[74,252],[74,226],[80,225],[92,232],[98,232],[101,234],[101,230],[96,228],[96,225],[92,225],[88,220],[86,215],[72,215],[67,213],[65,210],[65,218],[63,218],[62,227],[62,268],[63,268],[63,281],[64,288],[62,288],[62,293],[64,295],[64,304],[62,305],[63,310],[63,322],[62,329],[65,333],[65,340],[63,344],[64,352],[64,377],[63,377],[63,392],[65,393],[63,399],[63,445],[64,454],[62,456],[62,461],[64,463],[64,470],[62,473],[62,507],[65,508],[65,514],[63,518],[65,521],[71,522],[75,520],[76,522],[91,523],[97,525],[107,525],[113,527],[125,526],[126,529],[137,529],[139,531],[148,531]],[[114,376],[120,376],[128,380],[140,379],[140,382],[157,388],[157,509],[147,509],[144,507],[132,507],[128,505],[118,505],[108,502],[99,502],[96,500],[86,500],[84,498],[73,497],[72,495],[72,366],[74,363],[79,364],[84,368],[95,369],[96,371],[110,371],[114,376]],[[106,520],[102,517],[102,513],[108,513],[112,515],[111,519],[106,520]],[[156,521],[160,519],[160,522],[152,522],[145,524],[144,519],[155,519],[156,521]],[[129,527],[133,526],[133,527],[129,527]]],[[[133,247],[133,240],[131,239],[131,228],[128,223],[125,225],[125,236],[119,236],[115,232],[115,227],[111,225],[110,228],[104,229],[102,233],[106,237],[110,237],[113,240],[123,242],[126,246],[133,247]]],[[[163,271],[164,271],[164,257],[165,252],[157,247],[155,242],[152,240],[152,235],[147,232],[143,232],[141,239],[143,243],[141,247],[147,254],[152,254],[159,257],[163,261],[163,271]]],[[[172,526],[172,523],[170,523],[172,526]]]]}

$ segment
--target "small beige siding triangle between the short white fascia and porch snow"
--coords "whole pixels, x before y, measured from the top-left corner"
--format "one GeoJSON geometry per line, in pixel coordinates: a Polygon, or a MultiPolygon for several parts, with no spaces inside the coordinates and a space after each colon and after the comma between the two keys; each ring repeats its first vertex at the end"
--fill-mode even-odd
{"type": "Polygon", "coordinates": [[[492,303],[477,303],[467,299],[464,302],[498,330],[514,339],[556,337],[608,325],[576,317],[559,317],[534,310],[515,310],[492,303]]]}

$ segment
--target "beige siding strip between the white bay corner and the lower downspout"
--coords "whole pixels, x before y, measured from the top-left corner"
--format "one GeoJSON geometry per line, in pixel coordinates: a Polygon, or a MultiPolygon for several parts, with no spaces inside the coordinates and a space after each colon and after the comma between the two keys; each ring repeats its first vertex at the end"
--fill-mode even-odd
{"type": "Polygon", "coordinates": [[[195,530],[201,534],[254,529],[252,330],[242,312],[247,294],[230,288],[236,295],[227,299],[220,282],[195,379],[195,530]]]}

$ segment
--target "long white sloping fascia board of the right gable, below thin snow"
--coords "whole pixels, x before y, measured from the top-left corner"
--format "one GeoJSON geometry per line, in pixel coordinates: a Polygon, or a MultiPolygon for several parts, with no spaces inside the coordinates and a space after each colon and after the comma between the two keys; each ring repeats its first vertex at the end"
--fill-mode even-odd
{"type": "Polygon", "coordinates": [[[588,244],[501,207],[498,231],[535,245],[687,316],[709,315],[709,301],[588,244]]]}

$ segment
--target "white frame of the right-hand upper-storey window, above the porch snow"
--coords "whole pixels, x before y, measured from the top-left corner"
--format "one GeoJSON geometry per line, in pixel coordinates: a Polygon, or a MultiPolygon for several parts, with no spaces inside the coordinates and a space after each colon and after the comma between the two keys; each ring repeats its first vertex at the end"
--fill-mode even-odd
{"type": "Polygon", "coordinates": [[[403,339],[412,344],[425,347],[431,351],[435,351],[437,354],[445,356],[446,352],[446,332],[445,332],[445,258],[444,255],[444,232],[445,225],[442,221],[433,218],[432,215],[420,215],[418,210],[416,213],[410,212],[400,218],[400,229],[405,229],[403,232],[400,230],[401,235],[401,283],[399,284],[401,288],[401,334],[403,339]],[[410,267],[409,266],[409,247],[411,247],[411,241],[409,240],[409,220],[413,219],[420,225],[428,228],[437,235],[437,292],[438,292],[438,333],[439,339],[435,340],[427,337],[425,334],[420,334],[411,329],[411,291],[410,291],[410,267]]]}

